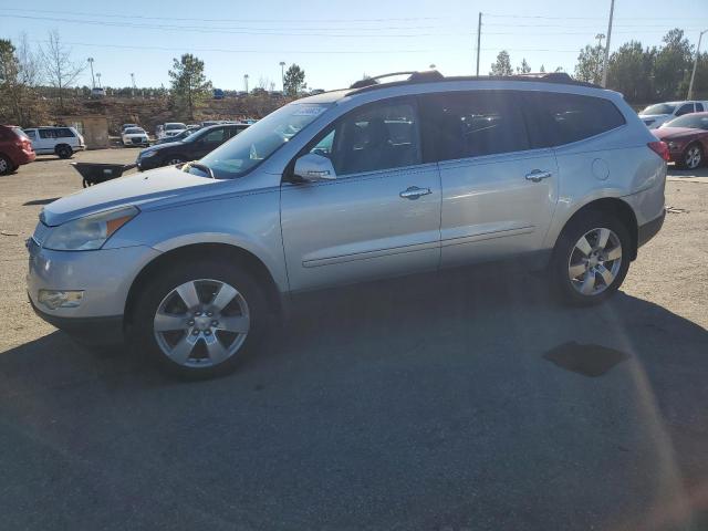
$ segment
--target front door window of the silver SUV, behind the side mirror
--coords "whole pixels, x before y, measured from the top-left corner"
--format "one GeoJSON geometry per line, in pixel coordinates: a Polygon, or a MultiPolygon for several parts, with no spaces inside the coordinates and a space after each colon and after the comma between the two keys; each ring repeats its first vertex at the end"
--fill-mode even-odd
{"type": "Polygon", "coordinates": [[[339,176],[420,164],[415,107],[391,102],[350,113],[310,153],[330,158],[339,176]]]}

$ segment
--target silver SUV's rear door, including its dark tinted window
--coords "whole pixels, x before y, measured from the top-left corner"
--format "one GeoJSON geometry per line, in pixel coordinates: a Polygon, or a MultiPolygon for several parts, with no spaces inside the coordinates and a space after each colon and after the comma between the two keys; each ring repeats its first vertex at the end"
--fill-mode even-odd
{"type": "Polygon", "coordinates": [[[441,266],[542,248],[558,200],[558,166],[531,145],[516,91],[423,96],[442,187],[441,266]]]}

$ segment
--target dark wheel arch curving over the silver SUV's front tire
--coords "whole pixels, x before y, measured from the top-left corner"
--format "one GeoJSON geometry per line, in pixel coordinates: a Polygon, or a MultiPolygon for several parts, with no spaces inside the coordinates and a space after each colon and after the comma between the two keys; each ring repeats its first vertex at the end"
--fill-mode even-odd
{"type": "Polygon", "coordinates": [[[275,280],[268,267],[256,254],[229,243],[192,243],[165,251],[143,267],[128,290],[125,301],[124,325],[129,326],[132,324],[139,294],[150,278],[159,274],[160,270],[169,267],[169,263],[174,263],[175,260],[201,259],[205,257],[228,259],[233,262],[235,267],[244,268],[257,280],[262,281],[266,296],[273,312],[280,313],[283,311],[283,298],[275,280]]]}

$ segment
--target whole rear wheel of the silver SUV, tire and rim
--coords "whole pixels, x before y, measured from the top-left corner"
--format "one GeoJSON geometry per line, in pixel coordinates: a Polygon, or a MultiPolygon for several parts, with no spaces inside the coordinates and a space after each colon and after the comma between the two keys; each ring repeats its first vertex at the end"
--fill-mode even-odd
{"type": "Polygon", "coordinates": [[[563,230],[553,251],[551,283],[571,304],[596,304],[611,296],[629,269],[632,239],[615,216],[589,212],[563,230]]]}

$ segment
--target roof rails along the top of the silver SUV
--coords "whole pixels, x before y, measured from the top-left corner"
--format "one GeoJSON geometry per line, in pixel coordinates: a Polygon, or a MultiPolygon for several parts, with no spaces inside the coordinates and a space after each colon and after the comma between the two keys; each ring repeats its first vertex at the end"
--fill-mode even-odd
{"type": "Polygon", "coordinates": [[[382,74],[376,75],[374,77],[365,77],[353,83],[350,88],[352,92],[348,94],[369,91],[375,88],[383,88],[384,86],[396,86],[396,85],[405,85],[409,83],[430,83],[436,81],[539,81],[543,83],[562,83],[569,85],[580,85],[580,86],[590,86],[593,88],[602,88],[600,85],[595,85],[594,83],[587,83],[584,81],[577,81],[571,77],[566,72],[534,72],[534,73],[525,73],[525,74],[511,74],[511,75],[469,75],[469,76],[444,76],[437,70],[427,70],[423,72],[393,72],[391,74],[382,74]],[[384,77],[392,77],[396,75],[406,75],[408,74],[407,80],[403,81],[393,81],[388,83],[379,83],[378,80],[384,77]]]}

